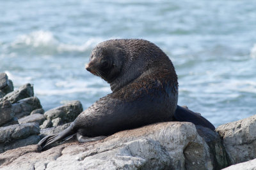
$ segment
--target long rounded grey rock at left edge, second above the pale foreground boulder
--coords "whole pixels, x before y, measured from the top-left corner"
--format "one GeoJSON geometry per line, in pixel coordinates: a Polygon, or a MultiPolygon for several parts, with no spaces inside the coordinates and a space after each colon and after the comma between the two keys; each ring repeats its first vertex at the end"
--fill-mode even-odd
{"type": "Polygon", "coordinates": [[[31,134],[39,134],[40,128],[38,123],[27,123],[19,125],[10,125],[0,127],[0,143],[10,143],[16,139],[27,138],[31,134]]]}

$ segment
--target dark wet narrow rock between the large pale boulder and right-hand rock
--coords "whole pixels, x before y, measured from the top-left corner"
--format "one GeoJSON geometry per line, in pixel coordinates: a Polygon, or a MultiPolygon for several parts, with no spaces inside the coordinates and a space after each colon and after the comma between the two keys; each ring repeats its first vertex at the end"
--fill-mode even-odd
{"type": "Polygon", "coordinates": [[[227,167],[227,153],[219,134],[200,125],[196,125],[196,131],[202,138],[204,138],[205,142],[209,146],[211,159],[212,162],[214,162],[214,169],[223,169],[224,167],[227,167]]]}

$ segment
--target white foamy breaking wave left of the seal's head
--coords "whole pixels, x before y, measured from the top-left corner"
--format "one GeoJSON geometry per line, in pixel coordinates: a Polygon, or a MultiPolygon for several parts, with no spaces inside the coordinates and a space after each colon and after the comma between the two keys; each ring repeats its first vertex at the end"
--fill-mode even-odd
{"type": "Polygon", "coordinates": [[[90,52],[102,38],[88,38],[82,45],[61,43],[49,31],[35,31],[18,36],[10,45],[9,52],[26,53],[34,55],[56,55],[61,53],[90,52]]]}

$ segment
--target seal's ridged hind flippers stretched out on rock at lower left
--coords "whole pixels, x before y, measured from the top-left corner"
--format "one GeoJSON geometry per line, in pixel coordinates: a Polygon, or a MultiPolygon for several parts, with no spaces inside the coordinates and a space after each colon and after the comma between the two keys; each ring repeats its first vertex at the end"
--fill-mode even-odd
{"type": "Polygon", "coordinates": [[[60,141],[61,139],[67,138],[72,134],[76,134],[72,127],[73,124],[70,124],[70,126],[67,129],[58,134],[45,136],[43,139],[41,139],[41,141],[38,142],[37,145],[41,146],[41,150],[45,150],[46,146],[49,146],[56,141],[60,141]]]}

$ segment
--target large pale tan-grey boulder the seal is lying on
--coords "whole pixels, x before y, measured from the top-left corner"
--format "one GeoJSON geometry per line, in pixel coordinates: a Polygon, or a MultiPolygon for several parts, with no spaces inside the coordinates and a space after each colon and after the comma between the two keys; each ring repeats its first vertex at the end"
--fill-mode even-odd
{"type": "Polygon", "coordinates": [[[164,122],[100,141],[0,154],[1,169],[212,169],[209,146],[189,122],[164,122]],[[11,159],[12,158],[12,159],[11,159]]]}

